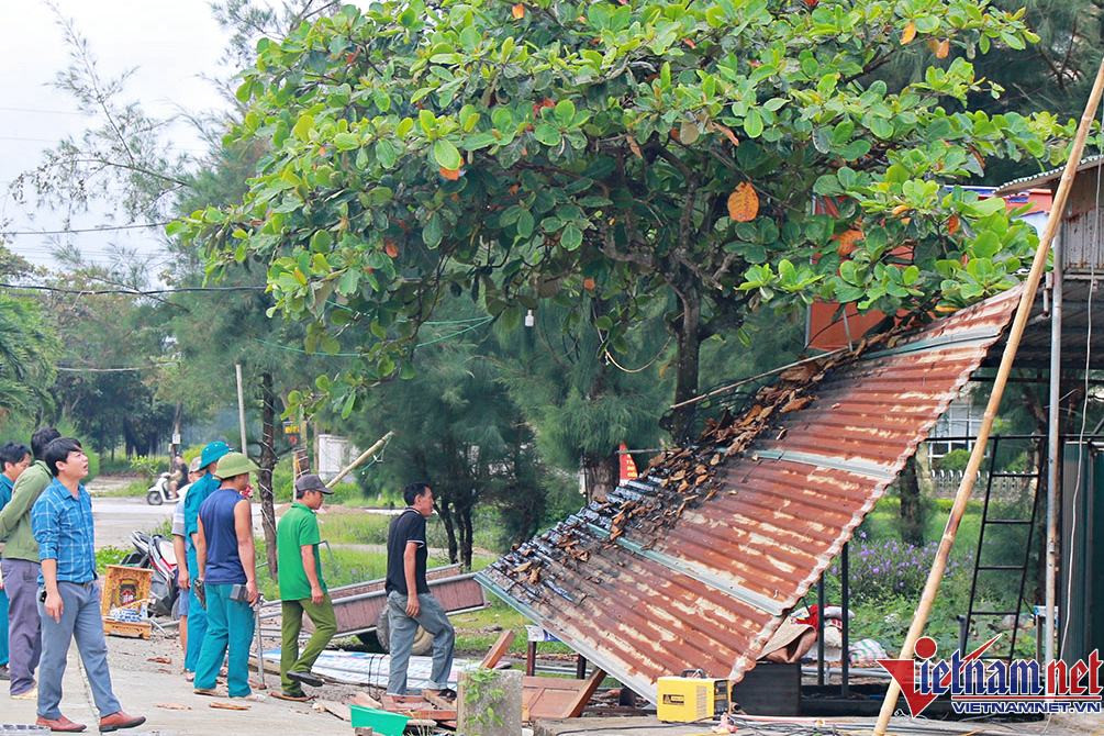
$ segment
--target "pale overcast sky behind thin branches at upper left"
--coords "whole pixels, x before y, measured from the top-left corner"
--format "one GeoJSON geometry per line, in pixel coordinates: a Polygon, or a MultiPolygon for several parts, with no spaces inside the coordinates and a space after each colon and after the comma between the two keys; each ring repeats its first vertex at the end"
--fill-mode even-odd
{"type": "MultiPolygon", "coordinates": [[[[221,58],[226,33],[211,14],[208,0],[56,0],[55,7],[89,43],[103,77],[137,67],[124,97],[148,114],[169,115],[182,108],[198,114],[223,109],[216,86],[202,78],[225,76],[221,58]]],[[[9,183],[35,168],[43,151],[95,120],[75,113],[76,104],[51,86],[68,63],[68,50],[56,14],[43,0],[0,2],[0,222],[6,231],[57,230],[62,214],[28,212],[8,194],[9,183]]],[[[174,126],[173,145],[202,152],[203,143],[185,125],[174,126]]],[[[71,227],[97,227],[110,222],[108,207],[75,215],[71,227]]],[[[114,224],[126,222],[119,213],[114,224]]],[[[85,257],[108,260],[113,244],[166,257],[158,231],[123,231],[68,235],[85,257]]],[[[34,264],[52,266],[52,241],[44,235],[13,235],[8,247],[34,264]]]]}

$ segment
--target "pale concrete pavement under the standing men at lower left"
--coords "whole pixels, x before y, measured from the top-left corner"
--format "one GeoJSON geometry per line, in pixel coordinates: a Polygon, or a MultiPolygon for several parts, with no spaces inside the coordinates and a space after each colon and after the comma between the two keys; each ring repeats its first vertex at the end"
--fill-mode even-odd
{"type": "MultiPolygon", "coordinates": [[[[212,708],[213,702],[241,701],[193,694],[192,684],[180,672],[183,659],[174,637],[155,633],[150,641],[108,637],[107,644],[116,696],[126,712],[145,715],[147,718],[144,726],[119,733],[134,736],[209,736],[220,733],[240,736],[273,736],[282,733],[315,736],[352,732],[347,722],[328,713],[315,712],[309,703],[287,703],[265,697],[264,702],[243,703],[248,705],[248,711],[212,708]],[[153,661],[155,659],[168,661],[153,661]]],[[[65,672],[62,713],[73,721],[86,724],[88,733],[96,733],[98,715],[78,662],[79,657],[74,647],[65,672]]],[[[269,689],[279,687],[277,679],[272,675],[267,675],[267,684],[269,689]]],[[[322,695],[342,701],[355,690],[336,685],[323,689],[322,695]]],[[[33,701],[11,700],[4,687],[0,692],[0,724],[33,724],[35,705],[33,701]]],[[[0,730],[3,730],[2,725],[0,730]]]]}

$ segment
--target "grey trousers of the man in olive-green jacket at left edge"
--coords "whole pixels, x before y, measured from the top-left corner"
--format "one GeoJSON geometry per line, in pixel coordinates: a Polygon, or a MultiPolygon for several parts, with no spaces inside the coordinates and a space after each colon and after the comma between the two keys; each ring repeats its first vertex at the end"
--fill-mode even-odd
{"type": "Polygon", "coordinates": [[[42,653],[39,619],[39,563],[2,559],[3,587],[8,593],[8,672],[12,695],[34,687],[34,670],[42,653]]]}

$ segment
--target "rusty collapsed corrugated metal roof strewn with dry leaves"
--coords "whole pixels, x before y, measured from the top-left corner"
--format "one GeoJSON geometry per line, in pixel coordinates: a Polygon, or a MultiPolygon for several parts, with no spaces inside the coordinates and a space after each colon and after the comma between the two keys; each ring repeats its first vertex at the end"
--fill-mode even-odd
{"type": "Polygon", "coordinates": [[[1001,335],[1020,288],[786,373],[477,575],[634,691],[741,679],[1001,335]]]}

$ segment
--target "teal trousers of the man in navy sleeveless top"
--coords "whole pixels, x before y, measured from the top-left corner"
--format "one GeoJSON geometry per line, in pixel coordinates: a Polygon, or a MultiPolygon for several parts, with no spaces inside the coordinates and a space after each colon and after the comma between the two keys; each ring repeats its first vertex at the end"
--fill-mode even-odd
{"type": "MultiPolygon", "coordinates": [[[[223,658],[226,662],[226,687],[231,697],[245,697],[253,691],[250,689],[250,644],[253,643],[254,618],[253,607],[241,600],[231,600],[232,585],[209,585],[205,587],[208,599],[208,630],[203,637],[203,651],[195,665],[195,687],[213,690],[215,678],[222,668],[223,658]]],[[[191,629],[191,618],[188,620],[191,629]]],[[[191,630],[188,631],[191,646],[191,630]]]]}

